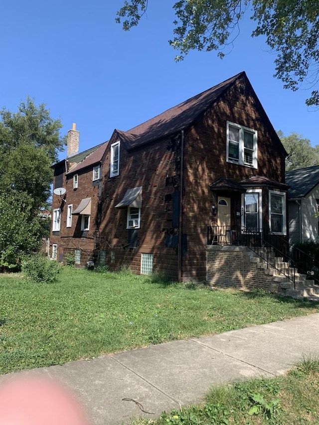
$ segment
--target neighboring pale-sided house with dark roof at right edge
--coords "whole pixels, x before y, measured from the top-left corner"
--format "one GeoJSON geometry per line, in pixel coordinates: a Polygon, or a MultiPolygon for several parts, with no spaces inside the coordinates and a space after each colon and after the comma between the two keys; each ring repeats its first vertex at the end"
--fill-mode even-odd
{"type": "Polygon", "coordinates": [[[289,242],[319,242],[319,165],[286,172],[289,242]]]}

